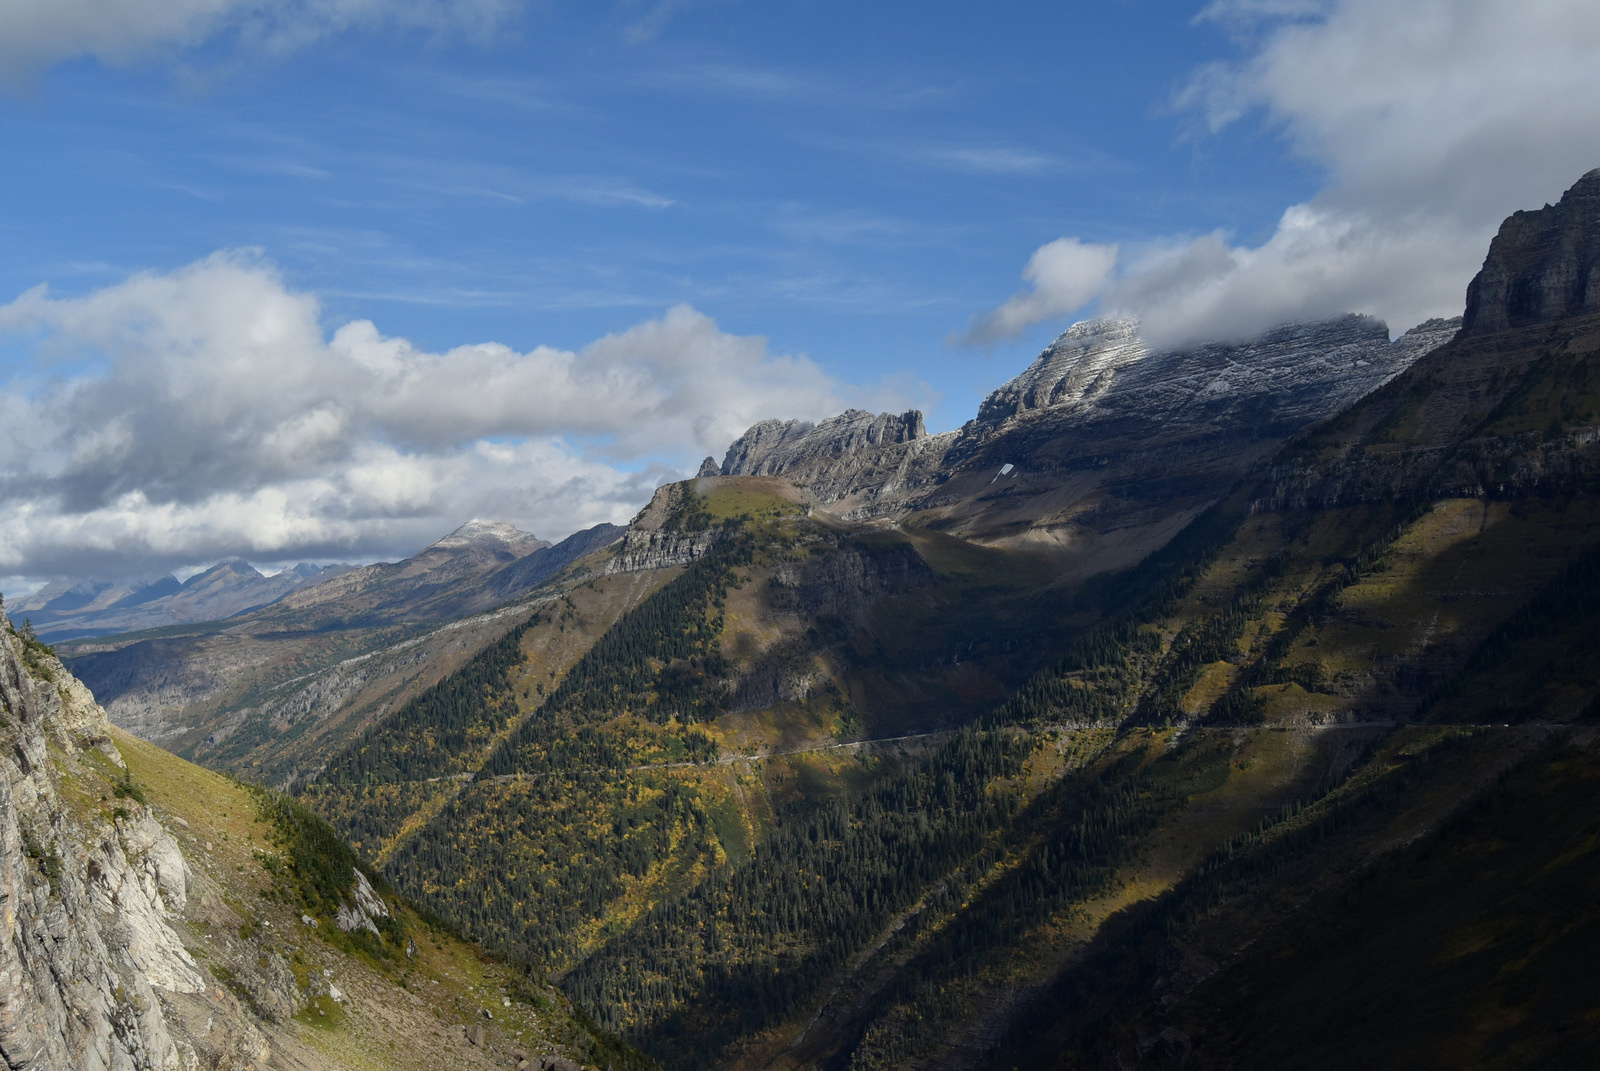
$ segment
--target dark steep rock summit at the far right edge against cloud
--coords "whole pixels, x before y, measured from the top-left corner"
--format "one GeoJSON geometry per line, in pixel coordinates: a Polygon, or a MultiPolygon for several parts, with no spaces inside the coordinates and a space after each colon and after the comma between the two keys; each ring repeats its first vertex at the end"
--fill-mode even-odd
{"type": "Polygon", "coordinates": [[[1461,333],[1490,335],[1600,312],[1600,168],[1557,205],[1514,213],[1467,285],[1461,333]]]}

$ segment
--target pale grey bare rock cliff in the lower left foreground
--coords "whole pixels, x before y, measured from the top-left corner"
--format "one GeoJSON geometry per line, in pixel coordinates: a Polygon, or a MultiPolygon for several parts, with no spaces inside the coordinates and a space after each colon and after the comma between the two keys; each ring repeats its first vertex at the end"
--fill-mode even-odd
{"type": "Polygon", "coordinates": [[[3,615],[0,709],[6,1066],[176,1071],[266,1058],[243,1018],[214,1023],[206,1037],[182,1029],[184,999],[205,1005],[208,989],[168,922],[187,906],[189,864],[144,804],[126,799],[107,818],[74,802],[93,770],[123,767],[110,727],[83,685],[3,615]]]}

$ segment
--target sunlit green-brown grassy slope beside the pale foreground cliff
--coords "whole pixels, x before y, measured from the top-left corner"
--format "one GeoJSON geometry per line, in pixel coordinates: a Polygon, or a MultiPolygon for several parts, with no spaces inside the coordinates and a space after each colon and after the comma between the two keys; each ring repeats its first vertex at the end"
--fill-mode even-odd
{"type": "MultiPolygon", "coordinates": [[[[595,1034],[555,989],[395,898],[378,871],[291,799],[122,730],[112,736],[128,764],[118,797],[149,802],[195,869],[189,908],[173,925],[250,1010],[277,1053],[274,1066],[502,1068],[517,1052],[645,1066],[595,1034]],[[376,921],[376,935],[334,924],[352,901],[352,868],[371,876],[392,909],[376,921]],[[483,1031],[477,1042],[470,1028],[483,1031]]],[[[93,796],[85,778],[72,784],[93,796]]]]}

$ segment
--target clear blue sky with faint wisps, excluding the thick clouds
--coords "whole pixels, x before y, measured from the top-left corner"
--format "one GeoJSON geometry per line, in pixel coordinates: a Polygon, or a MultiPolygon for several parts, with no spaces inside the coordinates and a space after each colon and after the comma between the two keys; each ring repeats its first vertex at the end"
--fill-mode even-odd
{"type": "Polygon", "coordinates": [[[0,295],[254,247],[330,323],[430,347],[576,347],[686,301],[845,379],[922,379],[949,427],[1066,325],[946,346],[1043,240],[1253,237],[1317,187],[1259,123],[1174,107],[1237,51],[1192,3],[653,11],[61,62],[5,104],[29,208],[0,295]]]}

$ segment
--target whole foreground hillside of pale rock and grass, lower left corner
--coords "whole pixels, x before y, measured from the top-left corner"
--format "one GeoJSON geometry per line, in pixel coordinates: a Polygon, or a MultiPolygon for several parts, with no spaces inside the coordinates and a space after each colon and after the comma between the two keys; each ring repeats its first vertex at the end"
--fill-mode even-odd
{"type": "Polygon", "coordinates": [[[112,728],[0,615],[0,1060],[13,1071],[614,1065],[304,808],[112,728]]]}

